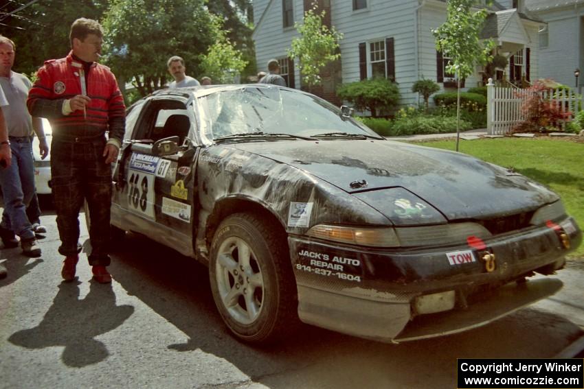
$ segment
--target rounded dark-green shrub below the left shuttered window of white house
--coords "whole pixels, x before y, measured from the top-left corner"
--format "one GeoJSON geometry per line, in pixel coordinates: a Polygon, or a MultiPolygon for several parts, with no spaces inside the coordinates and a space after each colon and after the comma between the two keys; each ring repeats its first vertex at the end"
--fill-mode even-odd
{"type": "Polygon", "coordinates": [[[358,110],[370,110],[371,115],[377,117],[377,110],[394,107],[400,94],[397,85],[390,80],[372,78],[342,84],[337,89],[337,96],[358,110]]]}

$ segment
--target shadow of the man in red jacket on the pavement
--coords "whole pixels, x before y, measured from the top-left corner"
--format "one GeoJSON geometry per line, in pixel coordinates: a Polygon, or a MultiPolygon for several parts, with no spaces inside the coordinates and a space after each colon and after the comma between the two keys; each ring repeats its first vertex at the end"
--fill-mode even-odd
{"type": "Polygon", "coordinates": [[[109,332],[129,318],[130,305],[115,305],[111,284],[91,280],[89,293],[79,299],[79,281],[60,283],[53,305],[41,323],[10,335],[8,341],[27,349],[63,346],[62,359],[67,366],[82,367],[106,359],[106,346],[94,338],[109,332]]]}

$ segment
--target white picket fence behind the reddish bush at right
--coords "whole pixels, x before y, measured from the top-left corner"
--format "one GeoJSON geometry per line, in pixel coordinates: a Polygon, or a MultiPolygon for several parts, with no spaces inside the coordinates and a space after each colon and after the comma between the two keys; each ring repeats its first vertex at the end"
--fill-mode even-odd
{"type": "MultiPolygon", "coordinates": [[[[486,130],[489,135],[504,135],[510,132],[517,124],[525,120],[521,113],[523,99],[517,96],[517,92],[527,95],[526,89],[506,88],[495,86],[493,79],[488,79],[486,85],[486,130]]],[[[543,92],[544,99],[558,102],[562,112],[570,111],[572,117],[582,109],[582,97],[574,91],[550,89],[543,92]]],[[[562,129],[565,122],[558,123],[562,129]]]]}

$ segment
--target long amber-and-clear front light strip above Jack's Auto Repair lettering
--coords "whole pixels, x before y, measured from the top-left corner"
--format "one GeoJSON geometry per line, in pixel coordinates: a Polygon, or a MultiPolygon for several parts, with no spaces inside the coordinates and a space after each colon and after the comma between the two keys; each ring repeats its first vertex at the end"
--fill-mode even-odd
{"type": "Polygon", "coordinates": [[[319,224],[307,235],[347,244],[373,247],[424,247],[466,244],[471,236],[488,239],[491,233],[476,223],[440,224],[437,226],[359,228],[319,224]]]}

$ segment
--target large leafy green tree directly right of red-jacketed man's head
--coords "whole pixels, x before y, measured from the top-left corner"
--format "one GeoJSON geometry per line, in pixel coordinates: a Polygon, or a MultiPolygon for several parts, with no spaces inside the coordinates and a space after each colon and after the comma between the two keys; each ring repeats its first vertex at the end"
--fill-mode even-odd
{"type": "Polygon", "coordinates": [[[201,74],[202,53],[221,42],[223,22],[203,0],[115,0],[104,16],[105,60],[120,79],[141,95],[170,79],[166,61],[178,55],[187,74],[201,74]]]}

